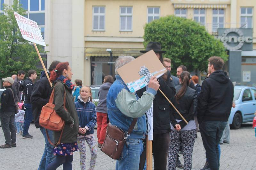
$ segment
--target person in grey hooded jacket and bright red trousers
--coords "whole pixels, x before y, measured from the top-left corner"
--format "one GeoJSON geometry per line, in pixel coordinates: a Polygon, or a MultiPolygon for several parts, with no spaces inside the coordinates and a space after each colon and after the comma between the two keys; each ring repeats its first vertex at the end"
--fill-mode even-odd
{"type": "Polygon", "coordinates": [[[103,84],[99,89],[99,103],[97,105],[97,138],[98,138],[98,147],[100,148],[106,137],[107,130],[107,95],[108,90],[114,79],[111,75],[106,75],[104,77],[103,84]]]}

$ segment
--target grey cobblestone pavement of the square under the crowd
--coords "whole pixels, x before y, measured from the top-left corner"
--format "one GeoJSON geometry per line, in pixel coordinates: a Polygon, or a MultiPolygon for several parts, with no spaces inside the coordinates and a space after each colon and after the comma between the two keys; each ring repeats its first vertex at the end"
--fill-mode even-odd
{"type": "MultiPolygon", "coordinates": [[[[0,149],[0,170],[36,170],[44,151],[44,137],[34,124],[30,125],[29,133],[33,139],[22,139],[17,136],[17,147],[0,149]]],[[[205,150],[200,132],[197,133],[192,158],[192,169],[200,169],[205,163],[205,150]]],[[[97,141],[97,130],[95,130],[97,141]]],[[[243,124],[238,130],[231,130],[230,144],[221,145],[220,170],[256,169],[255,134],[252,123],[243,124]]],[[[0,145],[4,144],[4,134],[0,128],[0,145]]],[[[87,147],[88,148],[88,147],[87,147]]],[[[86,151],[86,169],[89,169],[90,152],[86,151]]],[[[182,155],[180,160],[183,162],[182,155]]],[[[98,149],[96,170],[115,169],[116,161],[110,159],[98,149]]],[[[79,169],[79,152],[74,153],[73,169],[79,169]]],[[[60,166],[58,169],[62,169],[60,166]]],[[[178,168],[177,168],[178,169],[178,168]]]]}

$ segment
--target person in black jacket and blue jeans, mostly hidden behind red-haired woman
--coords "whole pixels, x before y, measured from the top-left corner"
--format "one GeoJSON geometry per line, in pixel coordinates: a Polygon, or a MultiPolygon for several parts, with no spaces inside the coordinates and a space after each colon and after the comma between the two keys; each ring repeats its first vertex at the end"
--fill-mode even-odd
{"type": "MultiPolygon", "coordinates": [[[[60,61],[52,61],[52,64],[48,69],[49,72],[54,71],[55,67],[59,63],[60,61]]],[[[47,73],[47,74],[50,77],[50,73],[47,73]]],[[[39,170],[45,169],[45,167],[49,163],[51,163],[54,159],[53,146],[48,142],[45,129],[39,125],[39,116],[40,116],[42,107],[49,102],[51,93],[52,93],[52,89],[51,89],[50,83],[46,77],[45,72],[42,71],[40,79],[36,81],[36,83],[34,84],[34,88],[30,97],[30,102],[32,103],[35,126],[37,129],[40,128],[40,131],[43,133],[44,140],[45,140],[44,153],[38,167],[39,170]]],[[[53,131],[48,130],[48,134],[51,141],[54,141],[53,131]]]]}

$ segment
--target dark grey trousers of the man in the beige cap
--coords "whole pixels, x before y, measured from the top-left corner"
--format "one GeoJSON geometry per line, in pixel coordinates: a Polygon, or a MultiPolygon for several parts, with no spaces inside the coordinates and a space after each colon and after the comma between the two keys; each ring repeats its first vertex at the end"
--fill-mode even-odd
{"type": "Polygon", "coordinates": [[[0,120],[4,132],[5,144],[12,145],[16,142],[16,129],[14,125],[15,113],[2,112],[0,113],[0,120]]]}

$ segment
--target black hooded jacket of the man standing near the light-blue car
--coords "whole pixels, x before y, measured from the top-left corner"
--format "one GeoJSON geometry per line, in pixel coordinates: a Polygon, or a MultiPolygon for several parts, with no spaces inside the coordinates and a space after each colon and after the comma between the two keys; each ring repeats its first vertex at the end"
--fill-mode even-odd
{"type": "Polygon", "coordinates": [[[214,71],[203,81],[198,101],[198,123],[208,121],[228,121],[234,87],[222,70],[214,71]]]}

